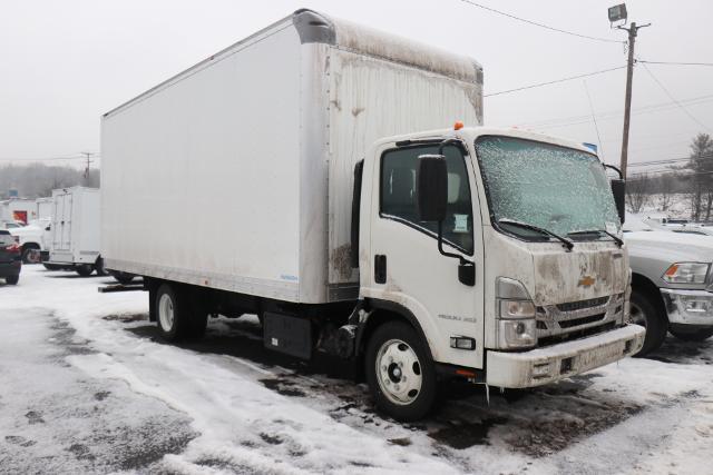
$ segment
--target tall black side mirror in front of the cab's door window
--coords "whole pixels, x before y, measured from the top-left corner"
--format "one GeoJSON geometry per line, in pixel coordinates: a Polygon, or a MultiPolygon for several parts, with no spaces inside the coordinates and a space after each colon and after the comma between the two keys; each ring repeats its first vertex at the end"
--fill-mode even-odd
{"type": "Polygon", "coordinates": [[[448,168],[442,155],[421,155],[416,174],[419,219],[440,222],[448,206],[448,168]]]}

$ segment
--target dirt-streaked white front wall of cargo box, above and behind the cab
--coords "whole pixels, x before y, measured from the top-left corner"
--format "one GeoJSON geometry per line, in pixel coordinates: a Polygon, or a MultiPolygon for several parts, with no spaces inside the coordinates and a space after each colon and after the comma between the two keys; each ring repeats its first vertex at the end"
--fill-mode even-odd
{"type": "MultiPolygon", "coordinates": [[[[442,58],[441,58],[442,59],[442,58]]],[[[456,68],[458,62],[442,61],[456,68]]],[[[349,261],[354,165],[382,137],[482,120],[475,63],[470,81],[334,48],[331,55],[329,283],[353,283],[349,261]]],[[[456,77],[456,72],[447,70],[456,77]]]]}

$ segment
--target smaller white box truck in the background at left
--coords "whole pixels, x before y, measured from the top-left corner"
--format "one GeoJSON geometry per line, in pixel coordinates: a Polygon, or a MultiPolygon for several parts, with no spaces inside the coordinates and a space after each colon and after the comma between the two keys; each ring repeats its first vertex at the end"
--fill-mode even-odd
{"type": "Polygon", "coordinates": [[[99,189],[71,187],[52,190],[51,249],[48,268],[74,268],[82,277],[105,275],[99,253],[99,189]]]}

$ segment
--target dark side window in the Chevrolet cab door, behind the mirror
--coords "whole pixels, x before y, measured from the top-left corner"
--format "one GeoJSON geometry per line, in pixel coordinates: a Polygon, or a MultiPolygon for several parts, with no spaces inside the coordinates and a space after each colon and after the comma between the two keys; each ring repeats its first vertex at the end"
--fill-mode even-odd
{"type": "MultiPolygon", "coordinates": [[[[472,204],[465,157],[456,146],[448,146],[442,152],[448,168],[448,206],[443,221],[443,240],[472,255],[472,204]]],[[[403,147],[382,155],[380,216],[436,237],[438,224],[419,220],[416,199],[419,156],[429,154],[438,154],[438,146],[403,147]]]]}

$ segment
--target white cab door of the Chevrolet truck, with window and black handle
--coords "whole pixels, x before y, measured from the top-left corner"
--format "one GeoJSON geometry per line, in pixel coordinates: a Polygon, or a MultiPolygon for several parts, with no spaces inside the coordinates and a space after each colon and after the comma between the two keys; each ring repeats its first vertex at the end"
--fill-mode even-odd
{"type": "Polygon", "coordinates": [[[433,359],[482,368],[484,246],[473,168],[463,147],[443,149],[448,164],[448,207],[443,248],[475,261],[476,284],[458,279],[458,259],[437,246],[437,224],[418,216],[419,156],[438,145],[384,147],[373,169],[371,224],[372,295],[407,307],[429,340],[433,359]],[[472,338],[475,349],[451,347],[451,337],[472,338]]]}

